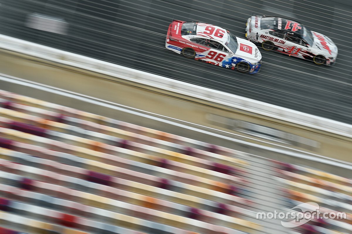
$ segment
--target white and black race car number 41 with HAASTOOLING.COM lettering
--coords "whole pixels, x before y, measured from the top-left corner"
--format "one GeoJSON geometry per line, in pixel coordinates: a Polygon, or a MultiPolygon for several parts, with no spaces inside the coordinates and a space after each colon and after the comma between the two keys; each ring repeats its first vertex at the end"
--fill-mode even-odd
{"type": "Polygon", "coordinates": [[[252,15],[247,20],[246,38],[266,51],[275,50],[317,65],[336,63],[338,50],[332,40],[294,20],[252,15]]]}

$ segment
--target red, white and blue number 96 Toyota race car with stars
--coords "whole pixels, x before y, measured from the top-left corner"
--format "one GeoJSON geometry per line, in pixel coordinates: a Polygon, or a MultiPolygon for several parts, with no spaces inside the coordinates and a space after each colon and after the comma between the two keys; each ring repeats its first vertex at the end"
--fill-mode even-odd
{"type": "Polygon", "coordinates": [[[256,45],[225,28],[202,22],[173,20],[165,47],[186,58],[251,74],[258,73],[262,63],[256,45]]]}

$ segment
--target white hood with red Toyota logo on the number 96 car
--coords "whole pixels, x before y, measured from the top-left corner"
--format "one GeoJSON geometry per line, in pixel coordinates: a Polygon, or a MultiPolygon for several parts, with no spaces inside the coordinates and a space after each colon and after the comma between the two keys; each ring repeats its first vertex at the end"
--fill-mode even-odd
{"type": "Polygon", "coordinates": [[[251,43],[249,40],[236,37],[237,39],[237,50],[235,55],[243,58],[250,63],[257,63],[262,59],[259,49],[256,45],[251,43]]]}

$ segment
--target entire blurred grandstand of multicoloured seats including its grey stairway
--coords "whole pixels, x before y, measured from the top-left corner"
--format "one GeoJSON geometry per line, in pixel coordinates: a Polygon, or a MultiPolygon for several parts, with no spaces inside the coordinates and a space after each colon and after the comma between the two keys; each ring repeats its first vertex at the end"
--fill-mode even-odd
{"type": "Polygon", "coordinates": [[[347,233],[352,180],[0,91],[1,233],[347,233]],[[344,220],[256,212],[315,201],[344,220]],[[10,230],[14,230],[11,232],[10,230]]]}

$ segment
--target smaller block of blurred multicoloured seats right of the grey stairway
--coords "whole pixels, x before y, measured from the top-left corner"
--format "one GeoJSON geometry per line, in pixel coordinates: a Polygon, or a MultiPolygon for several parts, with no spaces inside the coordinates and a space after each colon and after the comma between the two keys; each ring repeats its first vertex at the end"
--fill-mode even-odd
{"type": "Polygon", "coordinates": [[[343,218],[316,219],[301,228],[308,233],[345,233],[352,230],[351,180],[322,171],[273,161],[275,180],[283,187],[283,196],[289,201],[288,209],[306,202],[319,204],[319,211],[330,214],[345,213],[343,218]]]}

